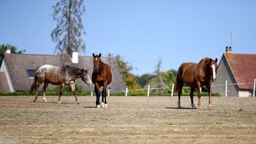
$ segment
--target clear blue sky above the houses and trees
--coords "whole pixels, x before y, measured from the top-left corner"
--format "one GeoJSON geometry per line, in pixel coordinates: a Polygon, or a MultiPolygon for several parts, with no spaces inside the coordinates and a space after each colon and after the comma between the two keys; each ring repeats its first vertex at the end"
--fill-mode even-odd
{"type": "MultiPolygon", "coordinates": [[[[0,44],[29,54],[53,55],[50,33],[57,1],[0,1],[0,44]]],[[[233,53],[256,54],[256,1],[85,1],[86,50],[121,55],[135,75],[152,73],[159,58],[161,71],[203,57],[220,60],[230,44],[233,53]]]]}

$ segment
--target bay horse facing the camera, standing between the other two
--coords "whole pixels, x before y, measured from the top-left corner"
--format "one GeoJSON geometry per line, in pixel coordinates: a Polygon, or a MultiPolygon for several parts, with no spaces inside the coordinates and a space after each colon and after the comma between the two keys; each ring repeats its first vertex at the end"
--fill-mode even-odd
{"type": "Polygon", "coordinates": [[[92,72],[92,82],[94,83],[94,91],[97,96],[96,98],[96,107],[107,107],[107,85],[112,81],[111,67],[110,65],[101,62],[101,53],[100,55],[94,55],[94,71],[92,72]],[[100,87],[103,87],[102,91],[102,102],[100,104],[100,87]],[[104,101],[105,99],[105,101],[104,101]]]}

